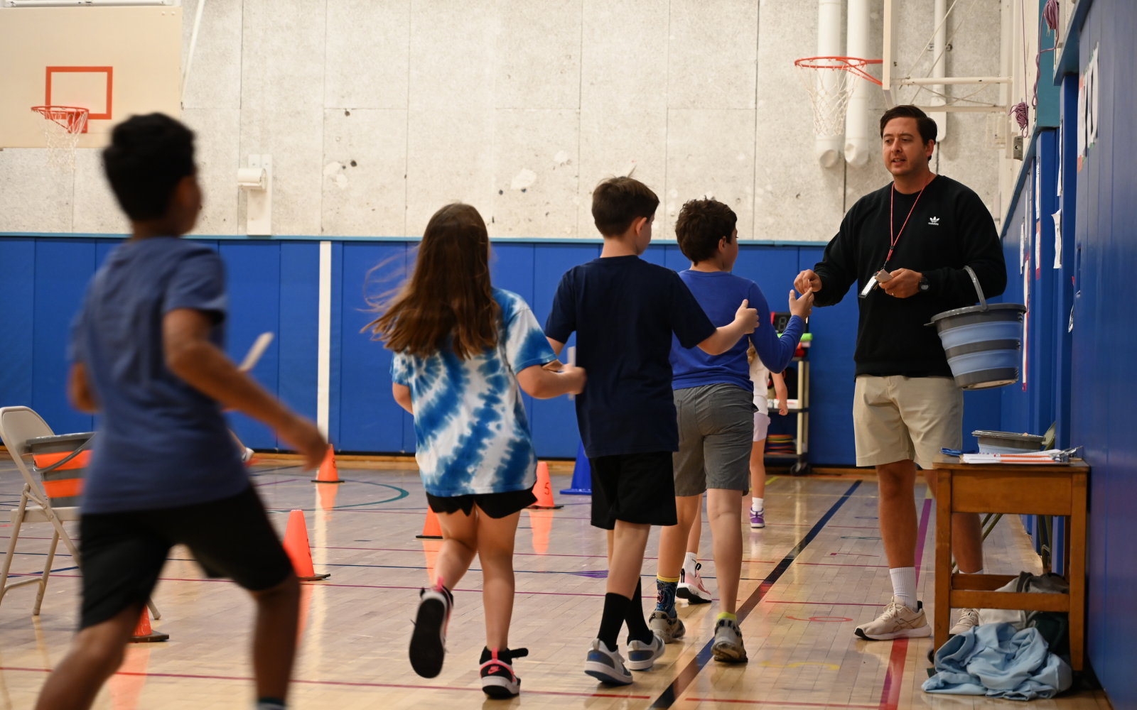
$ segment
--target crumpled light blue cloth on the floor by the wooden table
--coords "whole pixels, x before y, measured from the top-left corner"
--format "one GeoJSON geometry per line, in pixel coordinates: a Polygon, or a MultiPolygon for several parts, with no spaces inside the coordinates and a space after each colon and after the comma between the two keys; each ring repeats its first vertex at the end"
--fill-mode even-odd
{"type": "Polygon", "coordinates": [[[1007,700],[1051,699],[1073,684],[1073,671],[1049,652],[1037,628],[982,624],[948,638],[936,653],[928,693],[1007,700]]]}

